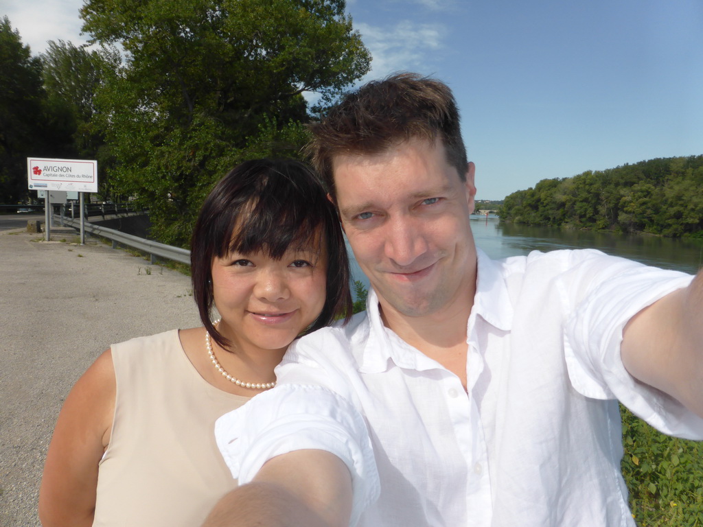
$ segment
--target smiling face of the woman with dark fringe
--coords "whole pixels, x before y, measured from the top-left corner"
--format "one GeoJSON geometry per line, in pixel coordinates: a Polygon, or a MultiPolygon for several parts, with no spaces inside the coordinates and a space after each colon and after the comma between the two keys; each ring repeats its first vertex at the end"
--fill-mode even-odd
{"type": "Polygon", "coordinates": [[[257,252],[212,261],[219,332],[241,351],[285,349],[325,304],[327,252],[289,248],[280,260],[257,252]]]}

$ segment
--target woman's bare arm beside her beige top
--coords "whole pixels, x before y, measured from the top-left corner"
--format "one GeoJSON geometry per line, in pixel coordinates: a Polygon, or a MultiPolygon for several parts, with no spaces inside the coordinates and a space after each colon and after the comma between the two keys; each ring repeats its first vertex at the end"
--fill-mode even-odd
{"type": "Polygon", "coordinates": [[[39,490],[44,527],[90,527],[98,463],[110,441],[115,369],[108,349],[86,370],[58,415],[39,490]]]}

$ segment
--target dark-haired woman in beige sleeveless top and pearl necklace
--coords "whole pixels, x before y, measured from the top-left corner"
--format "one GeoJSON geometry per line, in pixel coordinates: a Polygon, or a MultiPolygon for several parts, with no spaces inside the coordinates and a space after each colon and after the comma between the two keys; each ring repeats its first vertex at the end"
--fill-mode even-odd
{"type": "Polygon", "coordinates": [[[203,327],[115,344],[69,393],[41,481],[44,527],[200,525],[236,485],[215,419],[276,384],[296,337],[352,311],[335,210],[295,161],[245,162],[215,186],[191,271],[203,327]]]}

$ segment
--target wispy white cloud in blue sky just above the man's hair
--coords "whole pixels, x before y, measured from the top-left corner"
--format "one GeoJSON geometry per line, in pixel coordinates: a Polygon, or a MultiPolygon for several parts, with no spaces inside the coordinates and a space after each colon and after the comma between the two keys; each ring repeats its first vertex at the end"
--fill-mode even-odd
{"type": "Polygon", "coordinates": [[[439,24],[419,24],[402,20],[394,27],[356,24],[373,61],[362,82],[379,79],[396,71],[423,69],[430,53],[444,47],[446,31],[439,24]]]}

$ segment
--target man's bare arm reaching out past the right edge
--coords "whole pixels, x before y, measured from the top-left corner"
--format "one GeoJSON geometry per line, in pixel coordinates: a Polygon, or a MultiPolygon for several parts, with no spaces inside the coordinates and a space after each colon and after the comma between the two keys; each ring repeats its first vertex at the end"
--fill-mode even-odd
{"type": "Polygon", "coordinates": [[[630,375],[703,417],[703,270],[630,320],[621,356],[630,375]]]}

